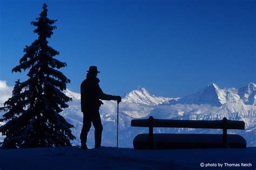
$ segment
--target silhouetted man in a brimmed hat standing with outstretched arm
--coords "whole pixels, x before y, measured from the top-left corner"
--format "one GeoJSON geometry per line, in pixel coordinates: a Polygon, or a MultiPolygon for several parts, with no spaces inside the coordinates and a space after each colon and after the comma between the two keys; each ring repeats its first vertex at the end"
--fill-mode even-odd
{"type": "Polygon", "coordinates": [[[103,104],[102,100],[117,100],[121,102],[120,96],[112,96],[104,94],[99,87],[99,79],[97,78],[98,70],[96,66],[90,66],[87,71],[86,79],[81,84],[81,110],[84,114],[83,129],[80,134],[81,147],[87,148],[87,134],[91,128],[91,123],[95,128],[95,148],[100,147],[102,142],[102,122],[99,116],[99,107],[103,104]]]}

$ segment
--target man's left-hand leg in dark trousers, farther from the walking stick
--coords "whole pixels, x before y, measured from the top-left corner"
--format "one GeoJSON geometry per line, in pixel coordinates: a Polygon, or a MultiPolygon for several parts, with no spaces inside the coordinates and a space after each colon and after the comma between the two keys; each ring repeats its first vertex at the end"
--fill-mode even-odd
{"type": "Polygon", "coordinates": [[[87,148],[86,146],[86,141],[87,141],[87,134],[91,128],[91,118],[90,116],[87,116],[86,114],[84,114],[84,118],[83,118],[83,128],[80,134],[80,140],[81,140],[81,147],[82,148],[87,148]]]}

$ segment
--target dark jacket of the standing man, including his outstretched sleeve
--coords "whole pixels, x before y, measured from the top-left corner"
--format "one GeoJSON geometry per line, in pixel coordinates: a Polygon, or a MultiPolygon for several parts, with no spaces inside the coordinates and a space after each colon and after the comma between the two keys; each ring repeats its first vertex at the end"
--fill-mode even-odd
{"type": "Polygon", "coordinates": [[[81,83],[81,110],[87,114],[93,114],[97,111],[102,103],[101,100],[115,100],[116,96],[104,94],[99,87],[97,77],[89,77],[81,83]]]}

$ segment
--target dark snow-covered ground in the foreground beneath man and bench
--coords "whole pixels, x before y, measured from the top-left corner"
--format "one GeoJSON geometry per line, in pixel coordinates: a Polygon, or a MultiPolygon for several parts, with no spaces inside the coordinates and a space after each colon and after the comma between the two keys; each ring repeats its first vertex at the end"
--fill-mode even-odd
{"type": "Polygon", "coordinates": [[[72,146],[0,150],[1,170],[255,168],[256,147],[197,150],[134,150],[102,147],[84,151],[72,146]]]}

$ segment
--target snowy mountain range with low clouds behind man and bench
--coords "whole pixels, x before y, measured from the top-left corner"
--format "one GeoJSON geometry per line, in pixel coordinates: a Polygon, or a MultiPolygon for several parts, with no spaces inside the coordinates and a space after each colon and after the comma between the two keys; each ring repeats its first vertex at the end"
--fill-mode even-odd
{"type": "MultiPolygon", "coordinates": [[[[11,89],[5,81],[0,80],[0,105],[11,96],[11,89]],[[4,98],[3,98],[4,96],[4,98]],[[7,96],[7,97],[6,97],[7,96]]],[[[72,129],[79,144],[79,134],[83,126],[83,113],[80,111],[80,94],[69,89],[65,94],[72,97],[69,108],[60,114],[75,126],[72,129]]],[[[104,146],[116,145],[117,103],[103,101],[100,117],[103,123],[104,146]]],[[[3,114],[3,113],[2,113],[3,114]]],[[[241,88],[220,88],[211,83],[198,93],[184,97],[160,97],[138,87],[122,97],[119,104],[119,146],[132,147],[133,138],[139,133],[147,133],[147,128],[131,127],[131,120],[153,116],[159,119],[191,119],[217,120],[227,117],[245,122],[245,130],[228,130],[228,133],[240,134],[247,140],[247,146],[256,146],[256,84],[248,83],[241,88]]],[[[212,129],[154,128],[155,133],[222,133],[212,129]]],[[[3,139],[3,137],[2,137],[3,139]]],[[[93,127],[87,141],[89,147],[94,146],[93,127]]]]}

